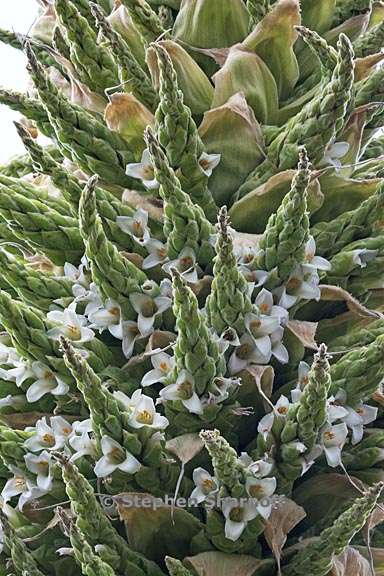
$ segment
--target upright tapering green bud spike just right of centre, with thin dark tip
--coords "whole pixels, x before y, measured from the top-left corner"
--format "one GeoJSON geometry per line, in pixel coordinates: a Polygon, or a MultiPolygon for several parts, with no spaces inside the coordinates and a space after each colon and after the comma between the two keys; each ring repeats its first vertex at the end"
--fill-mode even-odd
{"type": "Polygon", "coordinates": [[[244,316],[253,311],[249,284],[239,269],[233,251],[226,207],[219,214],[214,279],[207,298],[209,324],[218,334],[230,327],[241,336],[245,331],[244,316]]]}

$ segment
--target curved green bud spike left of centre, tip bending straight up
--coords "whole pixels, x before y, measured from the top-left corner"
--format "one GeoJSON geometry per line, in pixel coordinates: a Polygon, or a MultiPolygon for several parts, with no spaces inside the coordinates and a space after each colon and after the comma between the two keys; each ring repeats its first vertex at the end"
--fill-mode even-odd
{"type": "Polygon", "coordinates": [[[141,292],[147,277],[108,240],[96,206],[96,181],[85,186],[79,204],[80,233],[91,263],[92,278],[104,299],[120,304],[125,320],[136,318],[129,295],[141,292]]]}

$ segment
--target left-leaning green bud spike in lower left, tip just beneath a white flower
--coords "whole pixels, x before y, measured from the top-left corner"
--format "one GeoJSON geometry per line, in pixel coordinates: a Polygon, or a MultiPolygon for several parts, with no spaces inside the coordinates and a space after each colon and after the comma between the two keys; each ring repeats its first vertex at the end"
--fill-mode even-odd
{"type": "Polygon", "coordinates": [[[64,353],[64,362],[76,380],[91,415],[94,434],[100,445],[103,436],[109,436],[123,443],[123,415],[118,401],[113,394],[102,385],[99,376],[92,370],[87,360],[81,356],[69,340],[60,340],[64,353]]]}

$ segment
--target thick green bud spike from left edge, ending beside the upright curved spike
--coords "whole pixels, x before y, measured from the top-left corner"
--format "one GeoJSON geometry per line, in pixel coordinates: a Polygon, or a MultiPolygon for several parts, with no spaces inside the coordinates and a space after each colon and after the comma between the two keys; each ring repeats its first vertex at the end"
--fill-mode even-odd
{"type": "Polygon", "coordinates": [[[0,217],[22,241],[55,264],[80,262],[84,246],[75,218],[14,191],[9,195],[5,186],[0,186],[0,217]]]}

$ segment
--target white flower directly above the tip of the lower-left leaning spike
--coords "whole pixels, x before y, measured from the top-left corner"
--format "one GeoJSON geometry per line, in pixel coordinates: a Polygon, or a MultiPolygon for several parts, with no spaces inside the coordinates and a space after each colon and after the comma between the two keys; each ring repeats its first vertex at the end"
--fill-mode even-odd
{"type": "Polygon", "coordinates": [[[63,312],[53,310],[48,312],[47,318],[58,326],[51,328],[47,336],[53,340],[59,340],[60,336],[65,336],[72,342],[81,344],[89,342],[95,337],[95,333],[85,325],[87,319],[85,316],[76,314],[76,302],[72,302],[63,312]]]}

